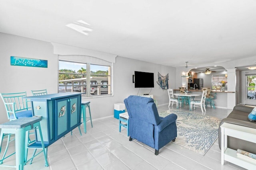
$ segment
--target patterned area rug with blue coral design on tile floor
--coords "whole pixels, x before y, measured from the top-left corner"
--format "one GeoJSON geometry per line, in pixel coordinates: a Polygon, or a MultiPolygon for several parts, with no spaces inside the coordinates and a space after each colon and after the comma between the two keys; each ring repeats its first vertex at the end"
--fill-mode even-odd
{"type": "Polygon", "coordinates": [[[179,110],[167,110],[159,113],[160,117],[174,113],[176,120],[177,137],[172,142],[198,154],[204,155],[218,138],[220,119],[197,113],[179,110]]]}

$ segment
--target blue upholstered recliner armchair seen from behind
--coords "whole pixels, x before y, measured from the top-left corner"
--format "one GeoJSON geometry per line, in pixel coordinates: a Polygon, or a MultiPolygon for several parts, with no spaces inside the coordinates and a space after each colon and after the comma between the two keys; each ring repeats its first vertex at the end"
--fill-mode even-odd
{"type": "Polygon", "coordinates": [[[176,114],[159,117],[156,104],[152,98],[129,96],[124,100],[129,115],[129,141],[138,141],[159,149],[177,137],[176,114]]]}

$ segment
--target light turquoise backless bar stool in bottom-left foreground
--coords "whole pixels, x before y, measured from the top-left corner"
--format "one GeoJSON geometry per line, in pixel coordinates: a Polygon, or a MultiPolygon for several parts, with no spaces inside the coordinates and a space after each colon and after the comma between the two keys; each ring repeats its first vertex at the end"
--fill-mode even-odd
{"type": "MultiPolygon", "coordinates": [[[[16,170],[23,170],[24,164],[26,162],[30,161],[30,164],[32,163],[32,160],[35,156],[37,156],[39,153],[44,153],[44,160],[45,160],[45,166],[48,166],[47,161],[47,155],[46,155],[46,148],[44,147],[44,141],[40,126],[40,120],[42,120],[42,117],[26,117],[26,118],[20,118],[13,121],[9,121],[6,123],[0,124],[1,128],[1,135],[0,135],[0,152],[2,149],[2,142],[4,139],[4,134],[15,134],[15,152],[10,154],[9,156],[16,154],[16,166],[12,165],[4,165],[1,164],[0,166],[6,166],[6,167],[16,167],[16,170]],[[28,131],[38,129],[40,139],[41,139],[41,145],[37,147],[32,147],[33,149],[42,149],[38,154],[35,155],[35,152],[29,160],[27,160],[27,154],[28,154],[28,148],[30,148],[31,145],[28,146],[28,131]]],[[[6,156],[4,159],[8,158],[9,156],[6,156]]]]}

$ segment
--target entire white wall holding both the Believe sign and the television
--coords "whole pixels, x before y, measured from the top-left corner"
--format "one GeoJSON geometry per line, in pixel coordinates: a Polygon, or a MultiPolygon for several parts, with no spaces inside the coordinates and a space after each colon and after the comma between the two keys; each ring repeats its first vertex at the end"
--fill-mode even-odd
{"type": "MultiPolygon", "coordinates": [[[[1,93],[27,92],[47,89],[48,93],[58,92],[58,56],[54,55],[51,43],[0,33],[0,72],[1,93]],[[48,68],[11,66],[10,56],[48,60],[48,68]]],[[[123,102],[129,95],[150,93],[158,101],[158,105],[168,103],[167,90],[162,90],[156,83],[158,72],[165,76],[169,73],[169,87],[175,88],[176,68],[154,63],[147,63],[124,57],[116,57],[114,63],[114,95],[107,97],[86,98],[90,101],[92,119],[107,116],[114,117],[114,104],[123,102]],[[154,72],[154,88],[134,88],[132,75],[134,71],[154,72]]],[[[4,104],[0,101],[0,123],[8,121],[4,104]]]]}

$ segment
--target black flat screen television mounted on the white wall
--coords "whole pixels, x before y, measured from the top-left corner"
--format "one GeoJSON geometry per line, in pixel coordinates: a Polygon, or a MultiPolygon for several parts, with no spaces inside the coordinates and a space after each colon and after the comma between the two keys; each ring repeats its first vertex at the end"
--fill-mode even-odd
{"type": "Polygon", "coordinates": [[[135,88],[154,87],[154,73],[134,71],[135,88]]]}

